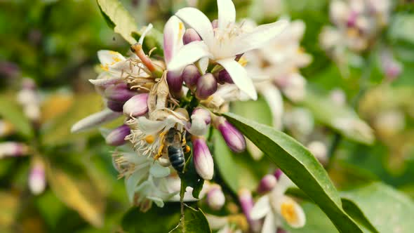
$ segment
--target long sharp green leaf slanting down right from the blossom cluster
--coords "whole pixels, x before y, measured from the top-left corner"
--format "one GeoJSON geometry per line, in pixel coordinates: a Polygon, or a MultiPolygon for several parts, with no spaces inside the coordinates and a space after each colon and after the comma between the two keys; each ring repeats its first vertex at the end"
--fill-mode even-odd
{"type": "Polygon", "coordinates": [[[338,191],[315,157],[299,142],[274,128],[223,114],[328,215],[340,232],[362,232],[342,209],[338,191]]]}

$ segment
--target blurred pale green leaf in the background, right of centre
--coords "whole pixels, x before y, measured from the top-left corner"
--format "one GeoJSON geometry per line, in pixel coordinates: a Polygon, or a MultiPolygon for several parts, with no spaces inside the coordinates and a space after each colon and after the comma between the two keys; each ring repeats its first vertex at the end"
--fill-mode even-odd
{"type": "Polygon", "coordinates": [[[307,89],[306,98],[301,104],[312,112],[317,121],[330,126],[346,138],[368,145],[374,142],[373,130],[351,107],[335,105],[329,98],[318,95],[312,89],[307,89]]]}

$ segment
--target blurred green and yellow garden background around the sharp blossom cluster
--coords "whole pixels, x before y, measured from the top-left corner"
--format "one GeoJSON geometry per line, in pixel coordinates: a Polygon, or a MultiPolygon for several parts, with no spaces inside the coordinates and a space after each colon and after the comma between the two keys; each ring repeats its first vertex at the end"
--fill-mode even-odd
{"type": "MultiPolygon", "coordinates": [[[[183,6],[197,6],[217,18],[213,0],[121,2],[138,27],[152,22],[161,30],[183,6]]],[[[240,19],[265,23],[283,17],[305,23],[300,45],[313,59],[300,73],[315,94],[302,102],[287,98],[285,131],[309,149],[310,142],[322,144],[322,149],[313,145],[314,154],[320,152],[338,187],[382,180],[414,198],[412,1],[392,1],[387,26],[375,35],[375,43],[343,53],[342,59],[321,43],[323,28],[335,25],[330,1],[234,4],[240,19]],[[399,69],[389,70],[392,62],[399,69]],[[330,116],[341,114],[335,106],[345,104],[368,123],[368,130],[350,126],[354,122],[330,122],[330,116]]],[[[0,0],[0,232],[122,231],[119,222],[130,205],[112,166],[113,147],[105,145],[99,131],[74,135],[70,127],[103,107],[88,82],[97,75],[97,51],[125,54],[128,48],[95,1],[0,0]]],[[[262,98],[259,104],[269,112],[262,98]]],[[[233,110],[246,114],[238,105],[233,110]]],[[[252,117],[270,124],[271,116],[252,117]]]]}

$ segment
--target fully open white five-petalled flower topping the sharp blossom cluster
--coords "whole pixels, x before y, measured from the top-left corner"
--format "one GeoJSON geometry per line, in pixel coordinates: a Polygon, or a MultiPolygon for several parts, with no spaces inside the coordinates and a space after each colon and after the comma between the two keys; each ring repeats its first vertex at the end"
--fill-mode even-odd
{"type": "Polygon", "coordinates": [[[171,69],[182,69],[200,58],[210,58],[222,65],[241,91],[256,99],[257,93],[246,69],[234,60],[236,55],[246,53],[265,45],[280,34],[286,25],[281,20],[260,25],[246,32],[243,24],[236,24],[236,10],[231,0],[218,0],[218,27],[213,28],[210,20],[196,8],[182,8],[175,13],[182,21],[196,30],[203,41],[193,41],[182,47],[170,62],[171,69]]]}

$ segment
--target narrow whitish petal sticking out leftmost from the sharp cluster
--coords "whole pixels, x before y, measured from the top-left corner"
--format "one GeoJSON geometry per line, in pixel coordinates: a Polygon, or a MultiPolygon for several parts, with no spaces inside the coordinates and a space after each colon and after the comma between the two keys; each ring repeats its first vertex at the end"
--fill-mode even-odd
{"type": "Polygon", "coordinates": [[[86,116],[84,119],[81,119],[80,121],[76,122],[70,129],[72,133],[77,133],[81,131],[86,131],[91,128],[95,128],[96,126],[100,126],[102,124],[105,124],[109,121],[112,121],[119,116],[121,116],[122,113],[120,112],[112,112],[110,109],[104,109],[101,112],[96,112],[90,116],[86,116]]]}

